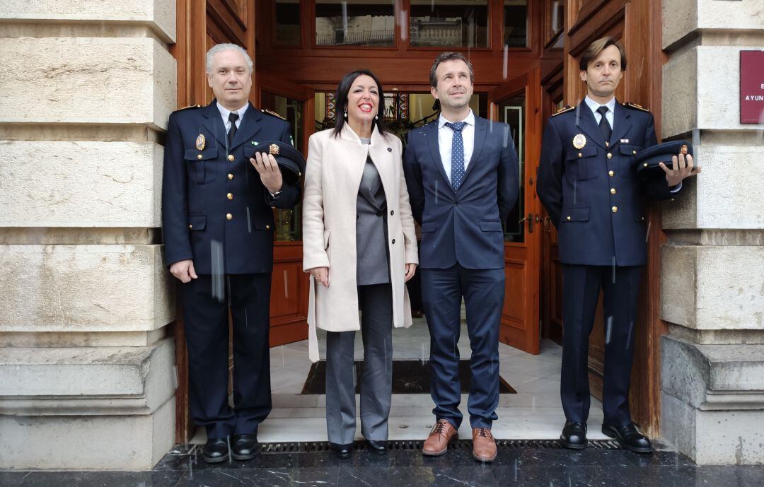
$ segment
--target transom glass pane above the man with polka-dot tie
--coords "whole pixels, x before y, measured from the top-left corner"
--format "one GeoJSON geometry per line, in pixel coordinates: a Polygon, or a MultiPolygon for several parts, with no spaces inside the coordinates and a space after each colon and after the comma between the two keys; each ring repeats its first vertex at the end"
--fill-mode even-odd
{"type": "Polygon", "coordinates": [[[412,46],[488,47],[487,0],[411,0],[412,46]]]}

